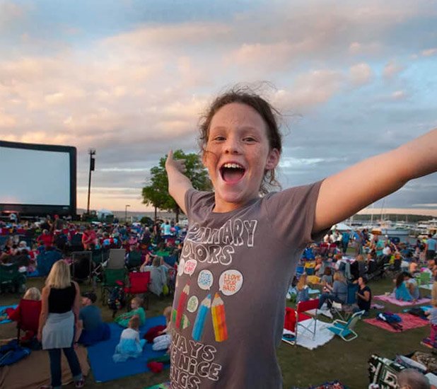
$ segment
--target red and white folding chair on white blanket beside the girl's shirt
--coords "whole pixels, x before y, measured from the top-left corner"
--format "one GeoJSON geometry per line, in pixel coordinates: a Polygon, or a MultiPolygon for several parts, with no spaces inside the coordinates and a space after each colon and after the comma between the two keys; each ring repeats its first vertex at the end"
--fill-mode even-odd
{"type": "Polygon", "coordinates": [[[294,342],[296,344],[298,339],[298,328],[301,327],[303,331],[308,331],[315,337],[317,330],[317,309],[319,306],[319,299],[308,301],[299,301],[296,309],[285,308],[284,328],[294,333],[294,342]],[[309,311],[313,311],[310,314],[309,311]]]}

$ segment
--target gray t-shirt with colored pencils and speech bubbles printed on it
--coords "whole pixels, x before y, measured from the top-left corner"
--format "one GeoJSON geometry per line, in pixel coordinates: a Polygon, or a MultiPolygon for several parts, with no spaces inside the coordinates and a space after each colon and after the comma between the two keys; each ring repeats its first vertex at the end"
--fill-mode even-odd
{"type": "MultiPolygon", "coordinates": [[[[172,314],[172,388],[281,388],[286,289],[311,236],[320,183],[214,213],[189,190],[172,314]]],[[[317,238],[325,231],[317,234],[317,238]]]]}

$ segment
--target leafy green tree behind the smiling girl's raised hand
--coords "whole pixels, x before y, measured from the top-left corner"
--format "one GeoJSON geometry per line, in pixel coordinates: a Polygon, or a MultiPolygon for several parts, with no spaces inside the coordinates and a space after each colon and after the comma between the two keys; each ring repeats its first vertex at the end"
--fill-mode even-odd
{"type": "MultiPolygon", "coordinates": [[[[208,178],[208,173],[204,168],[199,156],[195,153],[185,154],[182,150],[176,150],[173,153],[174,158],[184,159],[185,175],[190,178],[192,185],[197,190],[210,190],[211,182],[208,178]]],[[[158,163],[158,166],[153,166],[150,170],[151,178],[148,180],[148,185],[143,188],[143,204],[152,205],[156,210],[165,209],[175,213],[176,223],[179,221],[180,208],[177,206],[173,197],[168,193],[168,177],[165,171],[165,160],[167,156],[163,156],[158,163]]]]}

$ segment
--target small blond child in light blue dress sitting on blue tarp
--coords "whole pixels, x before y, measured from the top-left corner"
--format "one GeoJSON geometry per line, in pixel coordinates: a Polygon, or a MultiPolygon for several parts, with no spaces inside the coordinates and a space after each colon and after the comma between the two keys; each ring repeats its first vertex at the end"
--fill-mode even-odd
{"type": "Polygon", "coordinates": [[[114,362],[124,362],[128,358],[137,358],[143,352],[146,339],[139,339],[139,323],[137,315],[129,319],[128,327],[123,330],[120,342],[115,347],[115,354],[112,355],[114,362]]]}

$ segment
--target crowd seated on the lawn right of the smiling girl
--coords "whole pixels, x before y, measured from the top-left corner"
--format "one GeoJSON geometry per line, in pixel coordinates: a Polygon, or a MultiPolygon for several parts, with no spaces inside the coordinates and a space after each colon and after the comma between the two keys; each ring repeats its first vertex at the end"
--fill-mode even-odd
{"type": "MultiPolygon", "coordinates": [[[[435,257],[426,260],[426,255],[429,255],[426,240],[416,240],[412,244],[395,243],[387,236],[372,235],[366,230],[359,231],[358,236],[350,231],[347,235],[348,245],[350,242],[360,245],[359,250],[349,250],[349,255],[344,250],[347,245],[342,245],[344,234],[336,231],[327,233],[321,243],[312,243],[305,248],[299,264],[303,277],[298,275],[293,283],[299,286],[299,299],[308,298],[305,292],[310,284],[311,288],[320,289],[320,306],[326,302],[329,307],[334,301],[344,303],[348,285],[356,284],[355,303],[360,310],[368,312],[372,298],[369,280],[377,279],[377,276],[394,279],[393,296],[402,301],[416,301],[420,298],[419,273],[430,272],[431,280],[437,277],[435,257]]],[[[437,281],[433,290],[437,301],[437,281]]]]}

